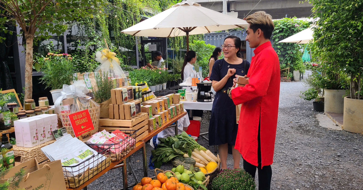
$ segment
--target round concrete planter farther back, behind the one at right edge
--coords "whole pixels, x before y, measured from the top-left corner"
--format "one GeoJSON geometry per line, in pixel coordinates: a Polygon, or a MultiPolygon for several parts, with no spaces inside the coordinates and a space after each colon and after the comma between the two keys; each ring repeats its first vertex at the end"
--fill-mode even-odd
{"type": "Polygon", "coordinates": [[[343,113],[346,90],[324,89],[324,112],[343,113]]]}

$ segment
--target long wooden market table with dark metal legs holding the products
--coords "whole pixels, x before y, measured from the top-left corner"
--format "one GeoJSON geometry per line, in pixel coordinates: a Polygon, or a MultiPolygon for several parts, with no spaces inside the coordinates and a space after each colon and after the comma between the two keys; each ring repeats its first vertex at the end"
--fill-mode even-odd
{"type": "MultiPolygon", "coordinates": [[[[111,169],[115,169],[118,167],[123,167],[123,188],[126,190],[129,185],[127,183],[127,167],[126,167],[126,159],[129,158],[133,153],[135,153],[137,150],[142,148],[142,156],[143,156],[143,169],[144,169],[144,177],[147,177],[147,159],[146,159],[146,143],[148,140],[150,140],[152,137],[155,136],[155,134],[160,133],[162,130],[166,129],[166,128],[171,128],[171,127],[175,127],[176,129],[176,134],[178,133],[178,120],[180,118],[182,118],[183,116],[185,116],[187,114],[187,112],[183,112],[181,114],[179,114],[178,116],[172,118],[171,120],[169,120],[168,122],[166,122],[164,125],[162,125],[160,128],[156,129],[155,131],[149,133],[146,137],[144,137],[141,141],[136,142],[135,148],[132,149],[129,153],[127,153],[124,157],[122,157],[122,159],[120,159],[120,161],[118,162],[111,162],[109,167],[106,167],[104,170],[102,170],[101,172],[99,172],[97,175],[95,175],[94,177],[92,177],[91,179],[89,179],[88,181],[86,181],[85,183],[83,183],[82,185],[80,185],[77,188],[68,188],[68,189],[73,189],[73,190],[87,190],[87,185],[89,185],[90,183],[92,183],[93,181],[95,181],[97,178],[99,178],[101,175],[105,174],[107,171],[111,170],[111,169]],[[175,122],[174,125],[172,125],[175,122]]],[[[131,172],[134,173],[133,169],[131,168],[131,172]]],[[[135,184],[132,184],[130,186],[134,186],[135,184]]]]}

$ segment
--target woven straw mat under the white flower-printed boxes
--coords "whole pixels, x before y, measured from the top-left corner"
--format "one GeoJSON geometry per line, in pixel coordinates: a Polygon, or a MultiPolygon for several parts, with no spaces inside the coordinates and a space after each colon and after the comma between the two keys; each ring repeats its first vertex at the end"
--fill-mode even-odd
{"type": "Polygon", "coordinates": [[[32,148],[20,147],[13,145],[14,156],[20,156],[20,162],[28,161],[29,159],[36,158],[38,162],[48,159],[46,155],[40,150],[42,147],[52,144],[56,140],[50,140],[32,148]]]}

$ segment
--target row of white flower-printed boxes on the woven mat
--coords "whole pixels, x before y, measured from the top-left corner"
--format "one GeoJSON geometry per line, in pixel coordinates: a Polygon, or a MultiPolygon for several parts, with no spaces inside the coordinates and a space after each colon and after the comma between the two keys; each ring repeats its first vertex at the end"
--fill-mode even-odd
{"type": "Polygon", "coordinates": [[[57,114],[42,114],[14,121],[16,146],[34,147],[54,139],[57,114]]]}

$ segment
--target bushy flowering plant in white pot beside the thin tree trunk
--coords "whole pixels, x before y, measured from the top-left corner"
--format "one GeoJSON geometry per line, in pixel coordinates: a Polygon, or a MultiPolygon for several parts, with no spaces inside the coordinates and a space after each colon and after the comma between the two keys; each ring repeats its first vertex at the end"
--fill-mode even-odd
{"type": "Polygon", "coordinates": [[[43,76],[41,82],[50,88],[50,93],[53,97],[53,102],[61,96],[63,85],[70,85],[77,78],[73,75],[76,73],[70,54],[48,53],[46,57],[38,57],[36,59],[41,65],[43,76]]]}

